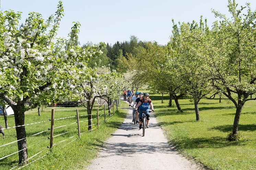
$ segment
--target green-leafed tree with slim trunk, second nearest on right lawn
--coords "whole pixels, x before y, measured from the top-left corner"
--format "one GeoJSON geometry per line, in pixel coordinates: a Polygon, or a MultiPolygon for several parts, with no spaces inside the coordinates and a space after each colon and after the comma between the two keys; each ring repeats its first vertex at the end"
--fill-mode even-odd
{"type": "Polygon", "coordinates": [[[198,103],[211,93],[212,86],[209,78],[205,74],[208,71],[200,55],[203,52],[206,37],[210,34],[207,21],[203,22],[202,16],[200,23],[179,23],[173,22],[173,49],[177,52],[178,72],[184,83],[186,93],[192,97],[195,105],[196,120],[200,120],[198,103]],[[203,48],[203,49],[202,49],[203,48]]]}

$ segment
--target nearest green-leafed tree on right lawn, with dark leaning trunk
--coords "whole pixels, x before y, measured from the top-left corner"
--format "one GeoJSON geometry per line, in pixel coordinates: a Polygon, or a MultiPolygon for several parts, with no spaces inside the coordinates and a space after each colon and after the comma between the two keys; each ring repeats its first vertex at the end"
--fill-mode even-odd
{"type": "Polygon", "coordinates": [[[231,18],[213,10],[220,22],[215,22],[204,56],[214,87],[221,90],[236,107],[230,140],[237,140],[238,123],[246,101],[256,93],[256,11],[250,4],[238,9],[229,0],[231,18]],[[246,11],[245,11],[246,10],[246,11]]]}

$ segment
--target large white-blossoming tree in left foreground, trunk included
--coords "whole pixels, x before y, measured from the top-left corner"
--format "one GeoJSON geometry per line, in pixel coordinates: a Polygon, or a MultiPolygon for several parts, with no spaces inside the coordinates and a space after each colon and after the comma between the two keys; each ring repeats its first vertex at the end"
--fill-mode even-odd
{"type": "Polygon", "coordinates": [[[32,12],[21,26],[21,13],[0,12],[0,98],[12,107],[15,126],[19,126],[16,127],[19,164],[27,160],[26,131],[21,126],[25,111],[70,95],[65,88],[70,86],[66,79],[72,79],[73,68],[80,65],[85,54],[89,55],[73,45],[79,32],[78,23],[72,27],[70,40],[55,38],[62,16],[61,1],[55,15],[47,20],[32,12]],[[30,105],[25,104],[27,101],[30,105]]]}

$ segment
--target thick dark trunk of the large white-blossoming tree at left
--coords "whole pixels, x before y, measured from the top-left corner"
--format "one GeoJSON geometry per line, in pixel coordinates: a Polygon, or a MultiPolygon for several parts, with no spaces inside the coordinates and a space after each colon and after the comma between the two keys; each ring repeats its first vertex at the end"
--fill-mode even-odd
{"type": "Polygon", "coordinates": [[[18,150],[19,152],[19,164],[26,164],[27,163],[27,140],[26,140],[26,130],[24,125],[25,123],[25,105],[24,104],[17,104],[13,107],[14,111],[14,119],[15,119],[15,126],[16,127],[16,135],[17,140],[23,139],[18,141],[18,150]],[[25,138],[25,139],[24,139],[25,138]]]}

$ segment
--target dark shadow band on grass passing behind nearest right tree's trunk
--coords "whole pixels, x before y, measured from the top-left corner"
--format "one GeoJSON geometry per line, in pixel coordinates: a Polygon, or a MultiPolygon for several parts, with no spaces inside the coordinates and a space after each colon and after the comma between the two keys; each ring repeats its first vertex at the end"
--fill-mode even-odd
{"type": "MultiPolygon", "coordinates": [[[[232,129],[233,129],[233,125],[222,125],[222,126],[216,126],[216,127],[210,128],[209,130],[231,132],[232,129]]],[[[256,130],[256,124],[238,125],[238,131],[255,131],[255,130],[256,130]]]]}

